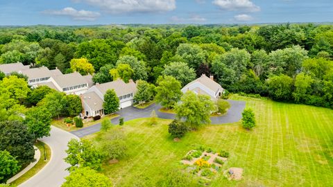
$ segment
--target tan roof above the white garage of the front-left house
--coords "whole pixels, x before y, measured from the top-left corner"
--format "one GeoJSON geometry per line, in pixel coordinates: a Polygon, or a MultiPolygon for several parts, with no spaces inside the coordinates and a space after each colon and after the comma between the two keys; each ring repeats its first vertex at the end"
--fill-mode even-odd
{"type": "Polygon", "coordinates": [[[101,94],[103,94],[103,96],[108,89],[114,89],[117,96],[132,94],[137,91],[137,85],[135,84],[135,82],[133,82],[133,80],[130,80],[130,82],[128,83],[125,83],[123,82],[123,80],[118,79],[103,84],[95,84],[95,87],[99,89],[99,91],[101,91],[101,94]]]}

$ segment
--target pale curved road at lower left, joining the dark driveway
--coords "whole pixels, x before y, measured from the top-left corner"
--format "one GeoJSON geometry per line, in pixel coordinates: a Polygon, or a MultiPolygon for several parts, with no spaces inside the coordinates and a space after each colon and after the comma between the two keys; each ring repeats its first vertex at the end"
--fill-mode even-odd
{"type": "MultiPolygon", "coordinates": [[[[51,126],[51,136],[40,139],[51,148],[51,160],[49,163],[37,172],[36,175],[19,185],[22,187],[59,187],[65,181],[64,177],[69,175],[66,168],[69,167],[68,163],[65,163],[64,158],[67,157],[67,143],[70,139],[78,139],[77,136],[64,130],[60,130],[57,127],[51,126]]],[[[43,159],[43,158],[41,158],[43,159]]]]}

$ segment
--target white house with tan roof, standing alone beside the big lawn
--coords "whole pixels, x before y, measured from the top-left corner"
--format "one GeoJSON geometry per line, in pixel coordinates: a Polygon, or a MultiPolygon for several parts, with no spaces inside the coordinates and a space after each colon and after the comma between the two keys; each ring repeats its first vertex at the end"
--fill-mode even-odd
{"type": "Polygon", "coordinates": [[[182,93],[187,91],[193,91],[195,94],[205,94],[210,96],[212,100],[217,100],[223,94],[224,89],[221,85],[214,81],[214,77],[208,78],[205,74],[201,75],[200,78],[189,82],[185,87],[182,88],[182,93]]]}

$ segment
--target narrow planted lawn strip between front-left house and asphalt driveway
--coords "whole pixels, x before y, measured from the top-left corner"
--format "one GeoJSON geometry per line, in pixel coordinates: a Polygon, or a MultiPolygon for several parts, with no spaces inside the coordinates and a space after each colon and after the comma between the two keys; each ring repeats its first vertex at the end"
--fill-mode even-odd
{"type": "MultiPolygon", "coordinates": [[[[99,120],[92,120],[92,121],[89,121],[89,122],[85,122],[83,123],[83,127],[89,127],[89,126],[92,126],[92,125],[96,125],[97,123],[101,123],[103,118],[109,118],[109,119],[112,119],[112,118],[115,118],[119,116],[119,114],[108,114],[108,115],[105,115],[103,116],[101,119],[99,120]]],[[[67,127],[66,123],[64,123],[64,118],[55,118],[53,119],[53,121],[51,122],[51,125],[54,125],[62,130],[65,130],[65,131],[68,131],[68,132],[71,132],[71,131],[74,131],[74,130],[80,130],[81,128],[78,128],[76,127],[75,125],[70,125],[69,127],[67,127]]]]}

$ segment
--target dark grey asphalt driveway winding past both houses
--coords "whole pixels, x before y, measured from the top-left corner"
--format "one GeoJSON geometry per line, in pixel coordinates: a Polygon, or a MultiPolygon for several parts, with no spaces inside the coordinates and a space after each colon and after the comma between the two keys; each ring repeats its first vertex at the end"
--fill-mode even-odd
{"type": "MultiPolygon", "coordinates": [[[[210,119],[212,121],[212,124],[221,125],[223,123],[235,123],[241,120],[241,112],[243,112],[245,108],[245,101],[228,100],[228,102],[231,104],[228,113],[225,114],[224,116],[211,117],[210,119]]],[[[155,109],[156,115],[159,118],[164,118],[164,119],[175,118],[175,114],[159,112],[158,110],[160,108],[161,108],[160,105],[155,105],[155,104],[146,107],[145,109],[138,109],[136,107],[126,107],[117,112],[119,116],[117,118],[112,118],[111,122],[113,124],[118,124],[119,118],[123,118],[124,121],[130,121],[136,118],[148,118],[151,116],[151,112],[153,111],[153,109],[155,109]]],[[[99,132],[99,130],[101,130],[101,123],[97,123],[96,125],[85,127],[83,129],[76,130],[71,133],[78,137],[83,137],[89,134],[93,134],[95,132],[99,132]]]]}

